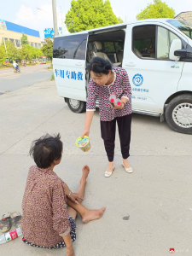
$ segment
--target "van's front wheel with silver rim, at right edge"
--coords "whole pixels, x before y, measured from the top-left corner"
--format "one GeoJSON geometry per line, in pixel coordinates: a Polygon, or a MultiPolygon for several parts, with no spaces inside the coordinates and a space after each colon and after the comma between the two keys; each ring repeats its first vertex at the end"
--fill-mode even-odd
{"type": "Polygon", "coordinates": [[[173,131],[192,134],[192,95],[172,99],[166,108],[166,123],[173,131]]]}

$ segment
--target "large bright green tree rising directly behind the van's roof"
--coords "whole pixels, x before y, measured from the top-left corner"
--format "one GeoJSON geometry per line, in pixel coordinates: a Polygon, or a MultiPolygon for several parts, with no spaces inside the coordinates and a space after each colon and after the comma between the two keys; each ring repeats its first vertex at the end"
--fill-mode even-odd
{"type": "Polygon", "coordinates": [[[65,24],[69,32],[80,32],[121,23],[113,14],[109,0],[72,0],[65,24]]]}

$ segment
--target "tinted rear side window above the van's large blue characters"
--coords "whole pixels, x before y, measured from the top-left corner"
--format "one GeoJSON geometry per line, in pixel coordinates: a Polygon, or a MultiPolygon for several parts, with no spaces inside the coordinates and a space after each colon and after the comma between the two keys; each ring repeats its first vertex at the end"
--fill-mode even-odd
{"type": "Polygon", "coordinates": [[[87,34],[55,38],[53,58],[85,60],[86,39],[87,34]]]}

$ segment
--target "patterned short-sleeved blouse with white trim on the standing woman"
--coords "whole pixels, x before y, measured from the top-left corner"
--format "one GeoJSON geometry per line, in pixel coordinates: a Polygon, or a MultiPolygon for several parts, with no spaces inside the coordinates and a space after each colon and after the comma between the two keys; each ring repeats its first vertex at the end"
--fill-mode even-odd
{"type": "Polygon", "coordinates": [[[102,121],[111,121],[116,117],[125,116],[132,113],[131,110],[131,84],[124,68],[113,67],[114,80],[109,85],[99,85],[90,79],[88,85],[87,111],[96,110],[96,96],[99,98],[100,119],[102,121]],[[125,107],[122,109],[113,109],[109,103],[109,96],[115,93],[117,98],[126,98],[125,107]]]}

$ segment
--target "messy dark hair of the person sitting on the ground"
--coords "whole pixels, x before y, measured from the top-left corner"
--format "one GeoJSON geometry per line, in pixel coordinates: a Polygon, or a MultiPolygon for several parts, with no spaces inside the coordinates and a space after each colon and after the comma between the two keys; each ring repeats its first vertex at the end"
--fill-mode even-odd
{"type": "Polygon", "coordinates": [[[46,169],[50,167],[54,160],[61,159],[62,142],[60,133],[53,136],[46,134],[33,141],[29,154],[39,168],[46,169]]]}

